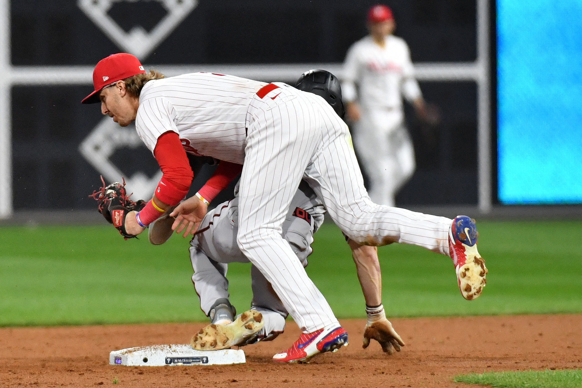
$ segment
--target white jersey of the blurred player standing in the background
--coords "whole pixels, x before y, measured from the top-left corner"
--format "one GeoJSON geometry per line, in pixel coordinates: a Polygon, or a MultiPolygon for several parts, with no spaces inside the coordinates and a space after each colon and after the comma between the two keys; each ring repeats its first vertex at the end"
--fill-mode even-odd
{"type": "Polygon", "coordinates": [[[365,108],[402,109],[402,98],[421,97],[414,79],[408,45],[402,38],[388,35],[384,48],[368,35],[347,51],[343,69],[342,92],[345,101],[358,98],[365,108]]]}

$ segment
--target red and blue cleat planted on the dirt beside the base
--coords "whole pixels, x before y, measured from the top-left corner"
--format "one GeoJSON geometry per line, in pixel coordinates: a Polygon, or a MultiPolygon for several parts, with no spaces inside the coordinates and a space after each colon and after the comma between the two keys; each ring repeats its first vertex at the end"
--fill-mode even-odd
{"type": "Polygon", "coordinates": [[[293,346],[283,353],[273,356],[275,362],[303,363],[320,353],[335,353],[340,347],[347,346],[347,332],[341,326],[320,329],[313,333],[301,334],[293,346]]]}

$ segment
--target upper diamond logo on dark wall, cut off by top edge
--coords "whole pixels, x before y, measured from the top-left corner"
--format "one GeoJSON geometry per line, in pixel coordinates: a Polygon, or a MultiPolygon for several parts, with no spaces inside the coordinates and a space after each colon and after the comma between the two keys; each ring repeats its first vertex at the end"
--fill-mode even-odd
{"type": "MultiPolygon", "coordinates": [[[[198,0],[79,0],[77,5],[123,51],[142,60],[182,23],[184,17],[196,8],[198,0]],[[126,32],[108,14],[114,3],[137,1],[161,3],[168,12],[150,32],[142,26],[134,26],[126,32]]],[[[139,19],[140,16],[134,17],[139,19]]]]}

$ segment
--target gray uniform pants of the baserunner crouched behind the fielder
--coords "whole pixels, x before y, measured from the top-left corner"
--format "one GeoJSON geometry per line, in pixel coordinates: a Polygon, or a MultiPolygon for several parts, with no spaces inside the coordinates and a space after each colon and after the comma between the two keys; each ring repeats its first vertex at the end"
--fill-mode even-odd
{"type": "MultiPolygon", "coordinates": [[[[237,195],[238,186],[235,188],[237,195]]],[[[223,202],[208,212],[190,243],[190,260],[194,275],[192,282],[200,297],[200,308],[212,323],[233,321],[235,309],[230,305],[226,270],[228,263],[248,263],[249,259],[236,243],[239,198],[223,202]]],[[[289,241],[297,259],[307,266],[313,251],[313,233],[324,221],[325,207],[307,183],[301,181],[292,206],[283,222],[282,236],[289,241]]],[[[288,312],[262,273],[251,266],[253,300],[251,309],[262,314],[264,326],[251,341],[274,339],[285,329],[288,312]]]]}

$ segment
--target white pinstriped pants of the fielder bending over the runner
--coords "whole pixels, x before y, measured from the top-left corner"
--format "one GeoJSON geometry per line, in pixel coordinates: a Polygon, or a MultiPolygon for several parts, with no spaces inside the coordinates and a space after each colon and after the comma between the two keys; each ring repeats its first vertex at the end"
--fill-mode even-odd
{"type": "Polygon", "coordinates": [[[303,177],[343,233],[359,243],[414,244],[448,254],[451,219],[374,204],[346,124],[325,100],[282,83],[247,112],[237,243],[304,333],[339,326],[281,225],[303,177]]]}

